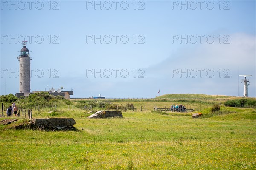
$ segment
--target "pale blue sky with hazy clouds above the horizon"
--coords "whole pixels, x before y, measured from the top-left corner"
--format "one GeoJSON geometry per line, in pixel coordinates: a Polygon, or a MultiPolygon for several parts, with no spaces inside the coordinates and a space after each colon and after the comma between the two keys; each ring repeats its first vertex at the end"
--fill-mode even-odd
{"type": "Polygon", "coordinates": [[[256,97],[256,1],[180,2],[1,0],[0,94],[19,91],[16,57],[25,37],[31,91],[238,96],[239,81],[242,96],[239,68],[252,74],[249,96],[256,97]]]}

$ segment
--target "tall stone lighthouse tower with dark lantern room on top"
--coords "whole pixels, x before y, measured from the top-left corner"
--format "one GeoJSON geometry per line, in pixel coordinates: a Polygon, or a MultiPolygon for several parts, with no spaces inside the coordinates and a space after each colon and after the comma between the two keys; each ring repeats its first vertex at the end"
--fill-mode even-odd
{"type": "Polygon", "coordinates": [[[32,58],[29,57],[29,49],[26,48],[26,42],[22,41],[23,48],[20,50],[20,56],[17,59],[20,62],[20,90],[19,93],[24,94],[23,96],[28,96],[30,93],[30,60],[32,58]]]}

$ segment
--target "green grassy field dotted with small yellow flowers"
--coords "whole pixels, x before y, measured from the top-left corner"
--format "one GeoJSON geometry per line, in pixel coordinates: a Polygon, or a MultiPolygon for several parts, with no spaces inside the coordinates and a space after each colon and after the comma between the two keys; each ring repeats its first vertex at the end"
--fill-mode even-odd
{"type": "Polygon", "coordinates": [[[221,112],[213,114],[212,102],[190,101],[186,105],[204,106],[204,115],[192,119],[182,113],[151,111],[154,105],[167,107],[169,101],[132,103],[137,111],[122,111],[122,119],[87,119],[87,111],[67,106],[52,113],[48,113],[51,108],[33,112],[38,118],[73,117],[77,131],[14,130],[12,125],[0,125],[0,169],[256,169],[255,109],[221,106],[221,112]],[[140,111],[139,106],[148,109],[140,111]]]}

